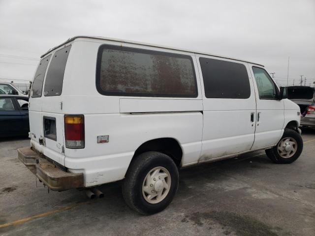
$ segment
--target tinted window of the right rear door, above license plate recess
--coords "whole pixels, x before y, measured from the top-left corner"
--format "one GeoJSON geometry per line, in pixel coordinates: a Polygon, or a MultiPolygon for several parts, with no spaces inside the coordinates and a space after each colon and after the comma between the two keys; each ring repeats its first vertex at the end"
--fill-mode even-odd
{"type": "Polygon", "coordinates": [[[44,96],[59,96],[63,91],[63,75],[71,45],[58,50],[48,67],[44,86],[44,96]]]}

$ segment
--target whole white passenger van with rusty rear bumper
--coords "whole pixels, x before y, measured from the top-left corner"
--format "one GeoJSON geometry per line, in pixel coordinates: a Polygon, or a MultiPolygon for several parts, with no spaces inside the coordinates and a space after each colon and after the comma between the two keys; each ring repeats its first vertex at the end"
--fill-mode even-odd
{"type": "Polygon", "coordinates": [[[295,161],[300,109],[284,98],[253,62],[77,36],[41,57],[19,158],[52,190],[123,180],[126,204],[152,214],[172,201],[179,168],[259,149],[295,161]]]}

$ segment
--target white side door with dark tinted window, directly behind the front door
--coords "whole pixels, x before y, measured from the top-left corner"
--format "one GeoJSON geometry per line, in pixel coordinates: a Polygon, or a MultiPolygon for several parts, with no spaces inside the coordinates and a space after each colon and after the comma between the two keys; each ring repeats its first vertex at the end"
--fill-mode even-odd
{"type": "Polygon", "coordinates": [[[199,161],[250,150],[256,102],[248,64],[198,57],[203,94],[203,137],[199,161]]]}

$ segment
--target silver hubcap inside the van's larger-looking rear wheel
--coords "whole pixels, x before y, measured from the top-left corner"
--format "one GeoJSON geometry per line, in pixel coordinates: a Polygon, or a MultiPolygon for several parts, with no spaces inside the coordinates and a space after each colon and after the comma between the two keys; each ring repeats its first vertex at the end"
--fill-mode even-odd
{"type": "Polygon", "coordinates": [[[144,178],[142,195],[151,204],[161,202],[168,194],[171,186],[171,175],[164,167],[152,169],[144,178]]]}

